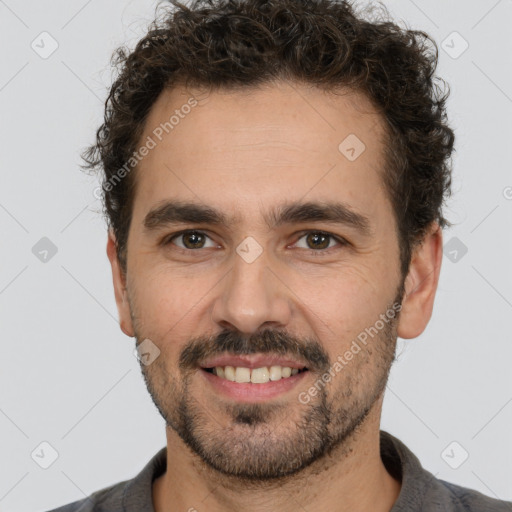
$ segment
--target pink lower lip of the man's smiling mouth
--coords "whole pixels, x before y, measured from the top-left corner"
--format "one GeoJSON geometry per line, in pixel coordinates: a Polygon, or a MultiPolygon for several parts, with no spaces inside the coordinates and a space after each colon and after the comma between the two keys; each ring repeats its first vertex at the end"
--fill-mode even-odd
{"type": "Polygon", "coordinates": [[[203,369],[201,369],[200,373],[218,393],[224,396],[239,402],[264,402],[265,400],[290,391],[297,386],[309,372],[306,370],[280,380],[270,380],[264,384],[233,382],[217,377],[217,375],[203,369]]]}

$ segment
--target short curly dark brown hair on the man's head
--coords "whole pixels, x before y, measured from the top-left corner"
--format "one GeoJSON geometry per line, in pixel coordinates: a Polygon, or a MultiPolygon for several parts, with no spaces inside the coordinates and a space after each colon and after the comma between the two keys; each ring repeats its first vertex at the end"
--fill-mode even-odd
{"type": "Polygon", "coordinates": [[[103,171],[103,211],[122,272],[136,171],[108,184],[126,169],[162,90],[178,83],[239,90],[284,79],[363,93],[385,120],[382,181],[405,277],[413,248],[432,223],[451,225],[442,206],[451,194],[454,133],[445,111],[449,87],[434,76],[436,43],[425,32],[400,28],[380,4],[377,20],[365,19],[343,0],[169,4],[171,10],[155,18],[133,51],[114,53],[119,73],[105,101],[104,122],[82,154],[84,169],[103,171]]]}

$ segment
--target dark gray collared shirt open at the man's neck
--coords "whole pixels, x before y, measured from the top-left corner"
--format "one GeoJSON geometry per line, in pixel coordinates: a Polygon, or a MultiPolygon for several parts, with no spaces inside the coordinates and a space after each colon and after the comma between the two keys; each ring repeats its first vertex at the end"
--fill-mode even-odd
{"type": "MultiPolygon", "coordinates": [[[[387,470],[402,482],[390,512],[512,512],[512,502],[436,478],[399,439],[380,431],[381,456],[387,470]]],[[[152,482],[165,472],[164,447],[131,480],[119,482],[48,512],[155,512],[152,482]]],[[[512,482],[511,482],[512,484],[512,482]]]]}

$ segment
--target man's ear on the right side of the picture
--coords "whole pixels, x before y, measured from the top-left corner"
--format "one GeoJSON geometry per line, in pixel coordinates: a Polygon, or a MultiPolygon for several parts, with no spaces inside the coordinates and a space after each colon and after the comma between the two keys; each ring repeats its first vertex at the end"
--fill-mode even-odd
{"type": "Polygon", "coordinates": [[[442,258],[443,234],[439,224],[433,222],[421,245],[413,252],[405,279],[397,330],[400,338],[416,338],[425,330],[432,316],[442,258]]]}

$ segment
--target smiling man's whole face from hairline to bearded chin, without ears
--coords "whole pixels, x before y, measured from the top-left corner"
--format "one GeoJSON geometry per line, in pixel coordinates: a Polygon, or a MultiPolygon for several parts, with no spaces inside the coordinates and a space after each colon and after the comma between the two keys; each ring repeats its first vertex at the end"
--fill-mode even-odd
{"type": "Polygon", "coordinates": [[[382,122],[362,96],[298,85],[212,92],[183,108],[191,96],[162,93],[141,137],[156,146],[136,171],[121,325],[160,350],[141,364],[148,389],[204,462],[238,477],[291,475],[375,411],[394,357],[389,311],[398,317],[403,281],[379,177],[382,122]],[[176,110],[172,130],[155,132],[176,110]],[[165,202],[209,211],[149,215],[165,202]],[[342,205],[367,229],[305,203],[342,205]],[[226,354],[245,355],[240,366],[281,357],[307,371],[241,384],[201,367],[226,354]]]}

